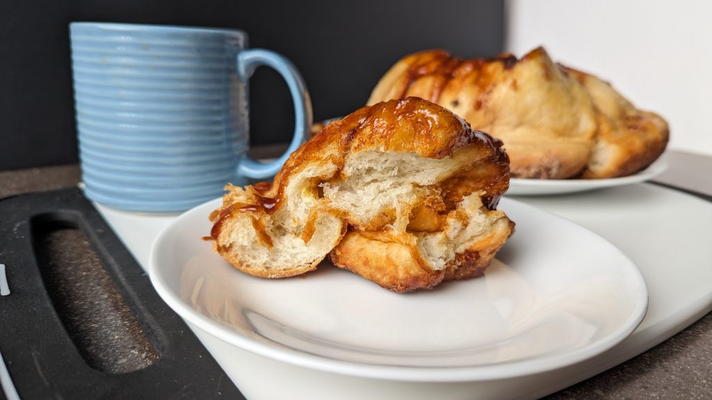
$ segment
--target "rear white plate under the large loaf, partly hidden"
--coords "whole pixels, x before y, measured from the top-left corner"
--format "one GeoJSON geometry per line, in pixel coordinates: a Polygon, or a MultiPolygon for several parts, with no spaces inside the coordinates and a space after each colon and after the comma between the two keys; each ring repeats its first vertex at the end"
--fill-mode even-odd
{"type": "Polygon", "coordinates": [[[575,193],[613,186],[637,184],[657,177],[667,169],[667,162],[658,159],[637,174],[611,179],[518,179],[509,180],[508,196],[542,196],[575,193]]]}

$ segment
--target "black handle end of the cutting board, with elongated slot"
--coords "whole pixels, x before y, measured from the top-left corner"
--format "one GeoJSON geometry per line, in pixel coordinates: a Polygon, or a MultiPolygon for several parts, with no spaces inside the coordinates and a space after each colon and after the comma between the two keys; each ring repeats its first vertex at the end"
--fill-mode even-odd
{"type": "Polygon", "coordinates": [[[0,263],[21,399],[244,399],[79,189],[1,199],[0,263]]]}

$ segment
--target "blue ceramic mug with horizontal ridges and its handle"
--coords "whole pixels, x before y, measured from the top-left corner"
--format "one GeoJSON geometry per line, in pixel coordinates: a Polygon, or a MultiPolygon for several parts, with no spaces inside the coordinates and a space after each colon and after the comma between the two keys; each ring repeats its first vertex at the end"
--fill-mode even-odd
{"type": "Polygon", "coordinates": [[[312,123],[304,80],[289,60],[248,49],[243,31],[70,23],[85,194],[116,209],[173,213],[276,174],[312,123]],[[248,79],[268,65],[289,87],[295,130],[282,157],[246,151],[248,79]]]}

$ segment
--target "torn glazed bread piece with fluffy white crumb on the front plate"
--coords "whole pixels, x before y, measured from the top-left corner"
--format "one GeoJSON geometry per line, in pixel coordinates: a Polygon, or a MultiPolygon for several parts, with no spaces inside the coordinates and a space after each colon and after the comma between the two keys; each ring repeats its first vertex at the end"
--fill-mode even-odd
{"type": "Polygon", "coordinates": [[[298,275],[331,251],[391,290],[431,288],[481,274],[511,235],[496,210],[508,176],[501,142],[449,110],[382,102],[331,122],[273,184],[228,186],[211,236],[252,275],[298,275]]]}

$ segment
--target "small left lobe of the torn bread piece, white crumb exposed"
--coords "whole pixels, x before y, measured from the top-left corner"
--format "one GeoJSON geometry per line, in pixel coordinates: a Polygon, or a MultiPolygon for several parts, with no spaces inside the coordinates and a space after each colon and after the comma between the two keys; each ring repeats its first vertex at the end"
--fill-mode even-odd
{"type": "Polygon", "coordinates": [[[322,206],[315,184],[335,171],[325,162],[295,168],[274,184],[225,186],[223,205],[210,214],[214,250],[235,268],[261,278],[315,269],[346,229],[322,206]]]}

